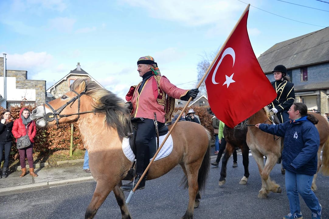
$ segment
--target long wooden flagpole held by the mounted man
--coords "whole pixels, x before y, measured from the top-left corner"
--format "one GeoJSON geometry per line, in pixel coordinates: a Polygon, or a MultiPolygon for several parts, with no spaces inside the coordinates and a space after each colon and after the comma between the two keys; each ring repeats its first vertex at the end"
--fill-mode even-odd
{"type": "MultiPolygon", "coordinates": [[[[210,64],[209,68],[207,69],[206,73],[203,75],[203,77],[201,78],[198,86],[196,88],[199,88],[202,84],[202,82],[204,81],[204,79],[206,78],[206,76],[208,75],[208,72],[210,70],[210,68],[214,65],[217,57],[219,56],[219,54],[221,53],[221,51],[223,50],[224,46],[226,45],[227,41],[230,39],[230,37],[232,36],[233,32],[235,31],[235,29],[237,28],[238,24],[240,23],[242,17],[244,16],[244,14],[249,10],[250,4],[247,5],[246,9],[244,10],[244,12],[242,13],[242,15],[240,16],[238,22],[235,24],[233,30],[231,31],[230,35],[228,36],[228,38],[226,39],[226,41],[223,43],[222,47],[220,48],[220,50],[218,51],[215,59],[213,60],[213,62],[210,64]]],[[[185,104],[184,108],[182,109],[182,112],[179,114],[178,118],[181,118],[181,116],[183,115],[183,113],[185,112],[187,106],[189,105],[189,103],[191,102],[192,97],[190,97],[190,99],[188,100],[188,102],[185,104]]],[[[176,124],[178,123],[179,119],[177,119],[175,121],[175,123],[173,124],[173,126],[171,127],[171,129],[169,130],[169,132],[167,133],[167,135],[164,138],[164,141],[162,142],[162,144],[160,145],[159,149],[156,151],[156,153],[154,154],[152,160],[150,161],[150,163],[147,165],[144,173],[141,175],[140,179],[138,180],[138,182],[136,183],[136,186],[133,188],[133,190],[130,191],[129,196],[126,200],[126,203],[129,204],[133,195],[135,194],[135,191],[137,189],[137,187],[139,186],[139,183],[142,181],[142,179],[144,178],[145,174],[147,173],[148,169],[150,168],[150,166],[152,165],[153,161],[155,160],[156,156],[158,155],[158,153],[160,152],[161,148],[164,146],[165,141],[168,139],[169,135],[171,134],[172,130],[175,128],[176,124]]]]}

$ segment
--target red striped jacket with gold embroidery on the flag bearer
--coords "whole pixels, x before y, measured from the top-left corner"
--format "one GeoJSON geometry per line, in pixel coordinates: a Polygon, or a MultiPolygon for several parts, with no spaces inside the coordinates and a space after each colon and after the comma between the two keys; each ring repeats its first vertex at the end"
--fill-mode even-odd
{"type": "MultiPolygon", "coordinates": [[[[126,100],[133,104],[131,117],[154,119],[155,112],[157,120],[161,123],[165,122],[165,116],[170,119],[173,110],[168,109],[170,107],[170,100],[166,95],[175,99],[180,99],[189,91],[176,87],[171,84],[165,76],[160,75],[151,76],[147,79],[139,94],[138,89],[140,83],[137,86],[132,86],[126,95],[126,100]]],[[[166,122],[168,122],[168,119],[166,122]]]]}

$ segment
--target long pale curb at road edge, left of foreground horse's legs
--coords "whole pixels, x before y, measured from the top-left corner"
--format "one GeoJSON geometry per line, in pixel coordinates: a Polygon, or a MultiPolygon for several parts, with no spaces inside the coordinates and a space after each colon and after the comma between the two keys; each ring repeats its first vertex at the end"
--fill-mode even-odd
{"type": "Polygon", "coordinates": [[[12,192],[17,190],[26,190],[26,189],[33,189],[37,187],[47,187],[47,186],[56,186],[61,184],[68,184],[73,182],[80,182],[80,181],[87,181],[94,179],[92,176],[90,177],[80,177],[80,178],[73,178],[73,179],[63,179],[63,180],[57,180],[57,181],[47,181],[47,182],[38,182],[34,184],[27,184],[27,185],[19,185],[19,186],[12,186],[7,188],[1,188],[0,194],[4,192],[12,192]]]}

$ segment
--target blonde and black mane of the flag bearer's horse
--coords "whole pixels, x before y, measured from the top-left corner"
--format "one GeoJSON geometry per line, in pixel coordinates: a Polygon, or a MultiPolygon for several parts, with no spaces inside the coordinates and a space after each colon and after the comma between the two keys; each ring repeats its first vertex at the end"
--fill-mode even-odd
{"type": "Polygon", "coordinates": [[[94,102],[90,104],[95,111],[106,114],[104,123],[118,132],[120,140],[131,132],[130,113],[121,98],[89,78],[76,79],[71,85],[71,90],[77,93],[85,91],[85,95],[93,99],[94,102]],[[81,90],[84,82],[85,87],[83,89],[85,90],[81,90]]]}

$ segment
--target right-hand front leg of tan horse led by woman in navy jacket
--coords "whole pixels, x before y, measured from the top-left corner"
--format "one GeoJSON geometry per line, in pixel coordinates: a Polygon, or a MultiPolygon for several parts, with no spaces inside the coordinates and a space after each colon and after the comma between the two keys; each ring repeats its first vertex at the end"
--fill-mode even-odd
{"type": "Polygon", "coordinates": [[[266,187],[267,187],[267,193],[269,191],[275,192],[275,193],[281,193],[281,188],[278,184],[275,183],[275,181],[272,181],[269,174],[271,173],[274,165],[277,163],[278,157],[274,154],[270,154],[267,156],[265,167],[261,173],[261,177],[265,180],[266,187]]]}

